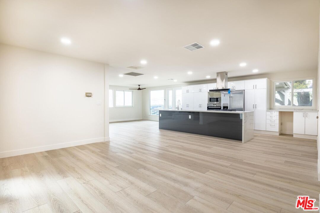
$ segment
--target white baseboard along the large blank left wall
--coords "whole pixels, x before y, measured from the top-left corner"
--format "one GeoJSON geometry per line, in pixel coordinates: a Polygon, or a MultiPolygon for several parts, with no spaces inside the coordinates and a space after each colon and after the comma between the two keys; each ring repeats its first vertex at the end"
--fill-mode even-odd
{"type": "Polygon", "coordinates": [[[87,139],[87,140],[83,140],[83,141],[72,141],[72,142],[67,142],[67,143],[58,143],[58,144],[52,144],[52,145],[47,145],[47,146],[41,146],[41,147],[16,149],[16,150],[12,150],[12,151],[0,152],[0,158],[17,156],[17,155],[25,155],[25,154],[35,153],[35,152],[43,152],[43,151],[48,151],[48,150],[52,150],[52,149],[73,147],[73,146],[79,146],[79,145],[84,145],[84,144],[89,144],[89,143],[97,143],[97,142],[109,141],[109,140],[110,140],[109,137],[105,137],[105,138],[102,137],[102,138],[87,139]]]}

